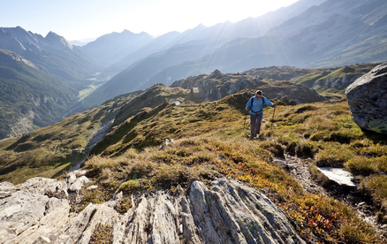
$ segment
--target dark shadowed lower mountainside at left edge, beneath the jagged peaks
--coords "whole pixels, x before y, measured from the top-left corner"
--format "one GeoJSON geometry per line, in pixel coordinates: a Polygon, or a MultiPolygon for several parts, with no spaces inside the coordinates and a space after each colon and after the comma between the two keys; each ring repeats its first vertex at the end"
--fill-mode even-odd
{"type": "Polygon", "coordinates": [[[0,50],[0,139],[49,126],[78,101],[78,92],[26,57],[0,50]]]}

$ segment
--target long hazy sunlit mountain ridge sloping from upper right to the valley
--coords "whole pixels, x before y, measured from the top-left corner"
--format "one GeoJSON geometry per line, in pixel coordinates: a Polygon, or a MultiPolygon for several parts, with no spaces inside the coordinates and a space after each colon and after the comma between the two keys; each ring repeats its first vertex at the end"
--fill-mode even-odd
{"type": "MultiPolygon", "coordinates": [[[[133,63],[87,100],[102,103],[123,92],[159,82],[169,85],[215,69],[242,72],[271,65],[334,67],[383,62],[387,60],[386,10],[383,0],[299,1],[257,19],[171,34],[178,45],[133,63]],[[275,18],[284,12],[288,15],[282,15],[283,19],[275,18]]],[[[145,47],[154,50],[151,44],[156,40],[145,47]]]]}

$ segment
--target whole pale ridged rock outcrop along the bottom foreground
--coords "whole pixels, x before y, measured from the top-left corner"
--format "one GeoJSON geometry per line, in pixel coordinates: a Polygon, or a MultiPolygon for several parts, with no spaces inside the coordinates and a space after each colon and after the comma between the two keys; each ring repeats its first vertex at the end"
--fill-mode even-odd
{"type": "Polygon", "coordinates": [[[114,210],[117,194],[77,214],[67,195],[81,175],[0,183],[0,242],[89,243],[104,226],[105,243],[305,243],[273,202],[236,180],[218,179],[210,189],[194,181],[178,197],[141,195],[124,214],[114,210]]]}

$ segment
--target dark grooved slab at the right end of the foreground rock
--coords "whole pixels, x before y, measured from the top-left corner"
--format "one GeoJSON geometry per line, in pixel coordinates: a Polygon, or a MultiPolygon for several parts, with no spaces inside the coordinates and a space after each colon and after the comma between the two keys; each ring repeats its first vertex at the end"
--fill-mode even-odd
{"type": "Polygon", "coordinates": [[[211,190],[195,181],[190,199],[204,243],[304,243],[269,198],[236,180],[211,190]]]}

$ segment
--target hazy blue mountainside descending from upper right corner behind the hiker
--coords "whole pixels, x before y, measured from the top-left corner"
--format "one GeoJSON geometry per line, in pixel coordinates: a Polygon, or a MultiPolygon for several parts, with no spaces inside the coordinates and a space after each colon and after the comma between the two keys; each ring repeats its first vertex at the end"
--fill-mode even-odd
{"type": "MultiPolygon", "coordinates": [[[[215,69],[242,72],[270,65],[334,67],[383,62],[387,26],[383,24],[386,8],[380,6],[384,4],[381,0],[359,0],[351,4],[325,1],[278,23],[258,37],[235,38],[220,46],[211,45],[215,50],[197,51],[194,56],[189,55],[193,47],[201,50],[208,46],[186,42],[178,50],[180,56],[176,60],[171,60],[170,54],[157,59],[146,57],[95,91],[95,97],[110,98],[119,94],[118,88],[130,92],[215,69]],[[148,62],[153,65],[147,65],[148,62]],[[144,75],[133,75],[136,73],[144,75]]],[[[176,51],[176,46],[171,51],[176,51]]]]}

